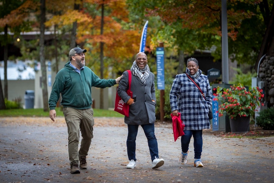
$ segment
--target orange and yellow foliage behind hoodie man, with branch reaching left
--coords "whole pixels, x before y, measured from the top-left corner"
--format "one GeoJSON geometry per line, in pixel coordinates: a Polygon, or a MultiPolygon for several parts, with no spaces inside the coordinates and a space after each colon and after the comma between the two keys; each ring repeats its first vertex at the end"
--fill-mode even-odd
{"type": "MultiPolygon", "coordinates": [[[[66,3],[69,2],[74,1],[66,1],[66,3]]],[[[112,68],[114,73],[128,69],[128,58],[132,58],[139,50],[142,26],[136,28],[135,25],[129,23],[126,1],[83,0],[76,2],[82,3],[79,11],[73,10],[72,3],[64,13],[48,20],[46,25],[56,24],[58,29],[66,27],[71,30],[73,22],[76,21],[76,43],[87,49],[86,65],[90,66],[95,73],[100,73],[100,42],[104,42],[104,68],[112,68]],[[101,35],[102,3],[104,3],[105,11],[104,31],[101,35]]],[[[109,70],[104,71],[104,77],[112,77],[110,74],[109,70]]]]}

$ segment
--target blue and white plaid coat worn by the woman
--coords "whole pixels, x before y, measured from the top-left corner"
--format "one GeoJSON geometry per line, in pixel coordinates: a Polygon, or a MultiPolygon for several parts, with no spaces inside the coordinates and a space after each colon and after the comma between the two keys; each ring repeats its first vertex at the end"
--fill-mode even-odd
{"type": "Polygon", "coordinates": [[[200,76],[195,79],[186,70],[186,74],[198,84],[206,99],[186,74],[177,74],[170,90],[171,111],[178,110],[181,113],[184,130],[210,129],[208,112],[212,106],[212,91],[207,76],[200,69],[198,72],[200,76]]]}

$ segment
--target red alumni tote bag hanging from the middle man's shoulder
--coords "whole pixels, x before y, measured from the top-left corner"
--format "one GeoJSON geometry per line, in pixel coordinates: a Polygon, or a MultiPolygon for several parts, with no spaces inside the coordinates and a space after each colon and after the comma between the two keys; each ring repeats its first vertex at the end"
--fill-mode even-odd
{"type": "MultiPolygon", "coordinates": [[[[128,71],[128,90],[127,94],[132,98],[132,91],[130,90],[131,86],[131,71],[128,71]]],[[[117,87],[118,89],[118,87],[117,87]]],[[[114,111],[123,114],[124,116],[128,117],[129,115],[129,105],[121,99],[121,97],[118,95],[116,91],[116,98],[115,98],[115,106],[114,106],[114,111]]]]}

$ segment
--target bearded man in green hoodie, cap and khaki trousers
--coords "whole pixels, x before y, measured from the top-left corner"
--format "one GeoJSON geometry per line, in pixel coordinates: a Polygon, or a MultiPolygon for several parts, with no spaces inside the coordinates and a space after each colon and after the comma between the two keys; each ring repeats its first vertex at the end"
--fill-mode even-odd
{"type": "Polygon", "coordinates": [[[93,138],[94,125],[91,87],[111,87],[119,84],[122,77],[100,79],[89,67],[85,66],[85,52],[85,49],[78,47],[70,50],[68,54],[70,61],[58,71],[48,101],[49,116],[55,121],[55,107],[61,93],[61,105],[68,127],[68,156],[72,174],[79,174],[79,167],[87,169],[86,156],[93,138]],[[81,130],[82,140],[78,151],[79,130],[81,130]]]}

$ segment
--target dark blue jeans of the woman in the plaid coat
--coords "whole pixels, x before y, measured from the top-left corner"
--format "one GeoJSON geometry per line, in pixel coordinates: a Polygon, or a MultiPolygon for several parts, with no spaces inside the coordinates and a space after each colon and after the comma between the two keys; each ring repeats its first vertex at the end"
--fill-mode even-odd
{"type": "Polygon", "coordinates": [[[203,131],[202,130],[184,130],[184,135],[181,137],[182,152],[188,152],[188,146],[193,135],[194,138],[194,159],[200,159],[203,146],[203,131]]]}

